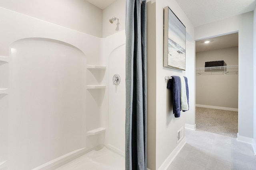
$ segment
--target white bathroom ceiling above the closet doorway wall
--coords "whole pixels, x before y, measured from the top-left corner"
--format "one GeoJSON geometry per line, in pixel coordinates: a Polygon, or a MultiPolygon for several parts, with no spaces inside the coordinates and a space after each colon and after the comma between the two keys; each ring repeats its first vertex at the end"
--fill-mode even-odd
{"type": "Polygon", "coordinates": [[[254,10],[256,0],[176,0],[194,27],[254,10]]]}

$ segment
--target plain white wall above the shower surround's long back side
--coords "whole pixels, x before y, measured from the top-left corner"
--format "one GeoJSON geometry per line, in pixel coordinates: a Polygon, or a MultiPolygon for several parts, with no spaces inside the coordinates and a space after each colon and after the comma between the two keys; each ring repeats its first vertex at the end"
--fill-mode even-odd
{"type": "Polygon", "coordinates": [[[0,6],[76,31],[102,37],[102,10],[85,0],[0,0],[0,6]]]}

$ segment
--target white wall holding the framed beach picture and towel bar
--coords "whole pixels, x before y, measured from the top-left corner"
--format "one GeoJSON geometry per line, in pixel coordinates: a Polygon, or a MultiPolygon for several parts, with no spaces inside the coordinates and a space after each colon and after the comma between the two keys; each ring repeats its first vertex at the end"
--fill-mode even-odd
{"type": "Polygon", "coordinates": [[[194,27],[175,0],[148,1],[147,13],[148,168],[156,170],[168,168],[178,147],[177,131],[185,127],[187,119],[194,120],[194,27]],[[186,26],[186,71],[163,67],[165,6],[186,26]],[[190,110],[179,118],[173,115],[164,79],[174,75],[187,76],[190,89],[190,110]]]}

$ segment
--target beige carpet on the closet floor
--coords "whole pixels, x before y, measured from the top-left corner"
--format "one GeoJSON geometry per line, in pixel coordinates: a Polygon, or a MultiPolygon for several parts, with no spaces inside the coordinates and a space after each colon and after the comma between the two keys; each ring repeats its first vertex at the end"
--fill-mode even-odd
{"type": "Polygon", "coordinates": [[[196,129],[237,138],[238,112],[196,107],[196,129]]]}

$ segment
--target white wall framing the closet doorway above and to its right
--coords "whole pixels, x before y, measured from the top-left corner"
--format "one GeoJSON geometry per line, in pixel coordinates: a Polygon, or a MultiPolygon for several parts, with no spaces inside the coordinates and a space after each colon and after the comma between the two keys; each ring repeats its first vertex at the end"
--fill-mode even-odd
{"type": "Polygon", "coordinates": [[[238,135],[253,138],[253,12],[195,28],[195,39],[238,31],[238,135]],[[246,82],[246,83],[244,83],[246,82]]]}

